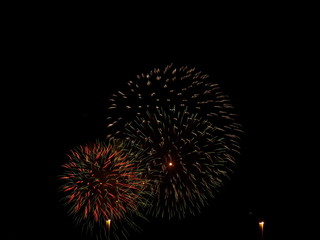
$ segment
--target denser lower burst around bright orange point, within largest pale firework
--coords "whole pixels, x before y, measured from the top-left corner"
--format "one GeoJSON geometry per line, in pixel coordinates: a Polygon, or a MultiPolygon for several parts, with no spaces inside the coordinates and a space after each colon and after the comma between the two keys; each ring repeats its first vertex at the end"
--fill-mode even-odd
{"type": "Polygon", "coordinates": [[[124,133],[143,142],[153,157],[143,162],[156,193],[147,211],[169,218],[200,212],[234,163],[221,129],[187,109],[146,115],[128,124],[124,133]]]}

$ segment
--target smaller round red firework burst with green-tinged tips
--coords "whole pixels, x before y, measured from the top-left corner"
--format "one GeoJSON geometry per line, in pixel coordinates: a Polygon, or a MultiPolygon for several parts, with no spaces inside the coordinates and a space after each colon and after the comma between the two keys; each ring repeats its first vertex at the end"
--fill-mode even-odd
{"type": "Polygon", "coordinates": [[[132,218],[142,217],[147,181],[137,162],[146,157],[144,151],[116,139],[70,150],[60,178],[75,222],[98,238],[124,239],[130,228],[139,230],[132,218]]]}

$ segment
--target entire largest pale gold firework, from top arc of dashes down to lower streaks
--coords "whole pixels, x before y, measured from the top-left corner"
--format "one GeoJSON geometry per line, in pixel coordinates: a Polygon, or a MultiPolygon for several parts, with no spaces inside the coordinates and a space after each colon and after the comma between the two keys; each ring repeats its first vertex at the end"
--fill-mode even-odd
{"type": "Polygon", "coordinates": [[[153,157],[143,162],[156,193],[149,212],[183,218],[200,211],[239,154],[241,126],[228,96],[207,74],[173,64],[128,86],[110,99],[107,126],[153,157]]]}

